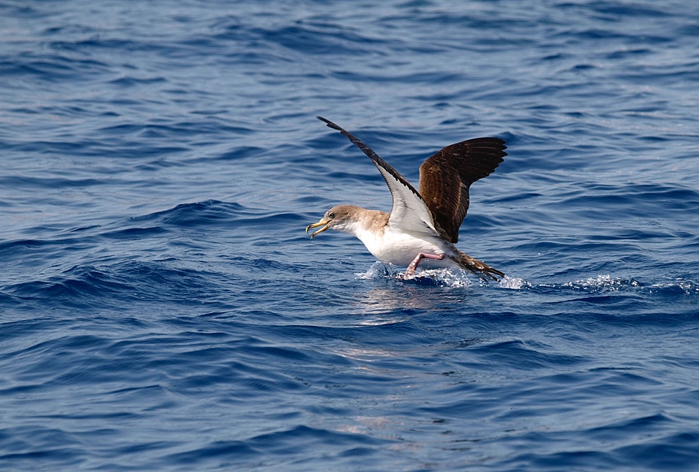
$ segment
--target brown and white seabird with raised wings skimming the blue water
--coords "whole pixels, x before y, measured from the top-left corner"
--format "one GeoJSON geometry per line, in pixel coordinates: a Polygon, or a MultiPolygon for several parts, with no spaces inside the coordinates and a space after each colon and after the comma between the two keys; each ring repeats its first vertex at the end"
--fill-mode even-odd
{"type": "Polygon", "coordinates": [[[423,259],[428,268],[461,267],[487,280],[505,274],[456,249],[459,227],[468,210],[468,188],[488,176],[507,155],[500,138],[475,138],[443,148],[420,166],[419,191],[368,145],[337,124],[317,117],[328,127],[349,138],[374,163],[386,180],[393,207],[391,213],[340,205],[328,210],[309,229],[326,229],[353,234],[374,257],[396,266],[408,266],[405,277],[415,275],[423,259]]]}

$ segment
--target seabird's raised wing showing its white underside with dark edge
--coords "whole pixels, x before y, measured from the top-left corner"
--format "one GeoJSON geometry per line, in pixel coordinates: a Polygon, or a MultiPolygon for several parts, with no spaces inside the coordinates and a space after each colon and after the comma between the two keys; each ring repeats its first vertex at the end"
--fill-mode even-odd
{"type": "Polygon", "coordinates": [[[428,208],[422,196],[415,187],[410,185],[408,180],[405,180],[391,164],[381,159],[376,152],[371,150],[359,138],[330,120],[326,120],[324,117],[319,116],[317,118],[324,121],[328,127],[340,131],[340,133],[349,138],[349,141],[352,141],[361,149],[371,159],[376,168],[379,169],[384,180],[386,180],[386,184],[389,186],[391,196],[393,196],[393,208],[391,208],[391,216],[388,223],[390,226],[400,228],[404,232],[440,234],[440,231],[435,229],[430,208],[428,208]]]}

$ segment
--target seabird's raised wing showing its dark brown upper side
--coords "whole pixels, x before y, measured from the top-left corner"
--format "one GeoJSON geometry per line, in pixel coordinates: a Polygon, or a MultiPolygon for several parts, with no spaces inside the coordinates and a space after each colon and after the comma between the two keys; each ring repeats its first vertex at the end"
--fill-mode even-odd
{"type": "Polygon", "coordinates": [[[500,138],[469,139],[447,146],[420,166],[420,195],[447,241],[459,241],[459,227],[468,211],[468,187],[503,162],[505,149],[500,138]]]}

